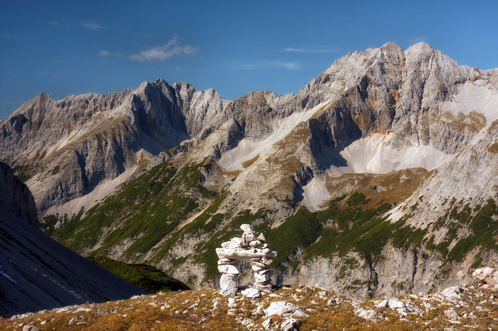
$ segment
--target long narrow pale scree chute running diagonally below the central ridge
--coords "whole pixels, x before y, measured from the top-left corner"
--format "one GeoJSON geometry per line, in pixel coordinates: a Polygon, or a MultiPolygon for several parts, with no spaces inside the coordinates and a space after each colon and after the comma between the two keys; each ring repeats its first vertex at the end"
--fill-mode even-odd
{"type": "Polygon", "coordinates": [[[318,104],[311,110],[294,112],[290,116],[281,119],[273,125],[273,133],[262,141],[253,142],[246,138],[242,139],[237,147],[231,149],[221,156],[218,164],[221,167],[231,171],[243,170],[244,167],[242,166],[242,163],[253,159],[257,154],[261,153],[266,148],[272,146],[274,143],[284,138],[299,123],[308,120],[311,116],[313,116],[315,112],[330,107],[333,102],[334,100],[331,99],[318,104]]]}

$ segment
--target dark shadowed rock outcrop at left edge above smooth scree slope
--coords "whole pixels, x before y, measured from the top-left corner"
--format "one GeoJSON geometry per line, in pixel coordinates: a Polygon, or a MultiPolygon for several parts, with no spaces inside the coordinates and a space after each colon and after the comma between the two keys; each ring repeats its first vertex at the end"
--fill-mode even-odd
{"type": "Polygon", "coordinates": [[[39,228],[33,196],[8,165],[0,162],[0,206],[34,228],[39,228]]]}

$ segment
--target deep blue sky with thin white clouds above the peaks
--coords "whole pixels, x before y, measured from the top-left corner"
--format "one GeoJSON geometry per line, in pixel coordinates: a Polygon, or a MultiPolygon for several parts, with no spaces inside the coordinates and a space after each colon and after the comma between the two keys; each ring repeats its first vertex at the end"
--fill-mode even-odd
{"type": "Polygon", "coordinates": [[[498,67],[498,1],[0,1],[0,118],[54,99],[188,81],[296,93],[352,51],[425,41],[498,67]]]}

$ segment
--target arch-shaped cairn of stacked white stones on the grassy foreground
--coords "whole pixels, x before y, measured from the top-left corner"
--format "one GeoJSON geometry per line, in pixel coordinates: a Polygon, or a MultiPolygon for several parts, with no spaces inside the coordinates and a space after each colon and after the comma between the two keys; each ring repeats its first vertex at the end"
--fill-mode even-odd
{"type": "Polygon", "coordinates": [[[224,297],[233,297],[240,293],[248,298],[258,298],[261,292],[271,293],[271,276],[273,272],[268,269],[268,264],[277,257],[261,233],[256,237],[256,232],[249,224],[242,224],[244,231],[242,237],[222,243],[223,248],[216,248],[218,254],[218,271],[222,273],[220,279],[221,293],[224,297]],[[254,271],[255,281],[253,286],[237,287],[237,275],[240,273],[235,267],[239,260],[250,260],[254,271]]]}

